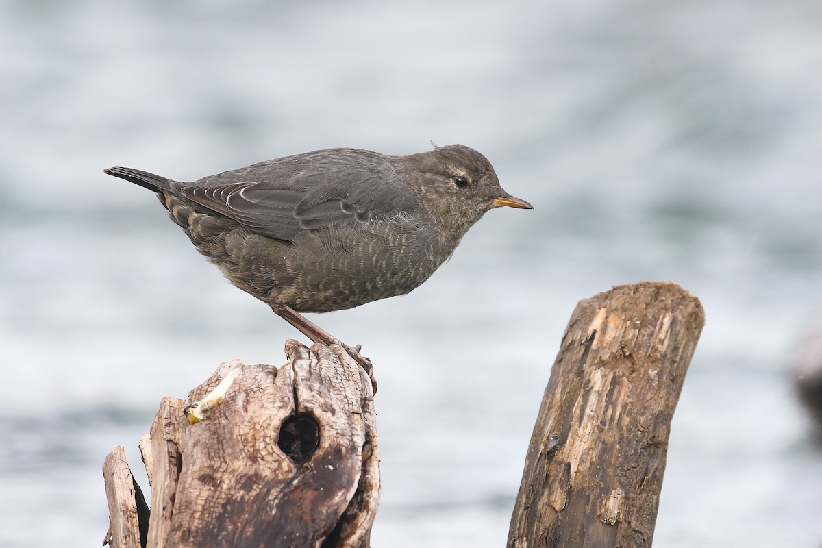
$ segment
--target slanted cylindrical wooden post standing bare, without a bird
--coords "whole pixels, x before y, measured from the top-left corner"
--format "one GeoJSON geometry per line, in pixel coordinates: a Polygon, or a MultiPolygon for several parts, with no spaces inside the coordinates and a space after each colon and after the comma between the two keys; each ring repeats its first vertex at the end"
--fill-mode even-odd
{"type": "Polygon", "coordinates": [[[651,546],[674,408],[704,325],[672,283],[579,303],[539,409],[508,546],[651,546]]]}

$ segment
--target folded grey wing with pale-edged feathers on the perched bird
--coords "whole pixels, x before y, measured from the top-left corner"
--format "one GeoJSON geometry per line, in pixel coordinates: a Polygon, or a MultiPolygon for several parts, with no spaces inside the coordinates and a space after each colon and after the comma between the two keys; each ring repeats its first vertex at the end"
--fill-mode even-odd
{"type": "Polygon", "coordinates": [[[178,192],[252,232],[291,240],[304,230],[365,223],[407,207],[412,196],[398,192],[393,170],[385,171],[350,163],[312,166],[287,177],[269,171],[258,181],[182,185],[178,192]]]}

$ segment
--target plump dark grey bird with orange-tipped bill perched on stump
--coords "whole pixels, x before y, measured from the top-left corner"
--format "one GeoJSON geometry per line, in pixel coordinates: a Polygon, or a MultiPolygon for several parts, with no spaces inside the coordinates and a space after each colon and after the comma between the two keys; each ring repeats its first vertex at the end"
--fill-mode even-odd
{"type": "MultiPolygon", "coordinates": [[[[487,210],[533,209],[502,190],[491,163],[464,145],[409,156],[316,150],[196,182],[132,168],[105,173],[155,191],[231,283],[327,345],[341,343],[299,312],[410,292],[487,210]]],[[[345,348],[370,372],[358,347],[345,348]]]]}

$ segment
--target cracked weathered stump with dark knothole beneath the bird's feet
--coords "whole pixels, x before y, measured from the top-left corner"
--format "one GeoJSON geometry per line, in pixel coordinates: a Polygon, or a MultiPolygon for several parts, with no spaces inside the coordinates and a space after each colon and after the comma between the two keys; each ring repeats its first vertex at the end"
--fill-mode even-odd
{"type": "MultiPolygon", "coordinates": [[[[140,442],[151,483],[147,546],[369,546],[380,490],[371,380],[343,348],[285,348],[279,371],[219,366],[189,401],[242,371],[201,422],[189,423],[181,399],[160,403],[140,442]]],[[[132,501],[113,494],[109,505],[114,532],[132,501]]]]}

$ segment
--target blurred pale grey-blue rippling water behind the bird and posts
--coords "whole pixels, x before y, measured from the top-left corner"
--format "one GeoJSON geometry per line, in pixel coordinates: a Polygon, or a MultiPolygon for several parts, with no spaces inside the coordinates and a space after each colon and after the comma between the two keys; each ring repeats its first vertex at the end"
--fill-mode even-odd
{"type": "Polygon", "coordinates": [[[137,468],[162,396],[297,335],[103,168],[430,140],[536,209],[487,214],[407,297],[315,316],[376,364],[374,546],[504,546],[575,303],[646,279],[707,315],[655,546],[820,546],[787,372],[822,300],[820,29],[811,0],[0,2],[0,546],[99,546],[109,449],[137,468]]]}

